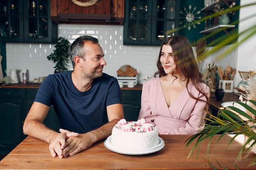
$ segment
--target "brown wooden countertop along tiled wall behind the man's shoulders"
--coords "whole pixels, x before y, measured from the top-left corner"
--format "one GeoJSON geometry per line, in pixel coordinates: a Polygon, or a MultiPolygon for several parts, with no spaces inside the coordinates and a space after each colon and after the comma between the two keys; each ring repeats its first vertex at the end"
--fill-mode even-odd
{"type": "MultiPolygon", "coordinates": [[[[0,88],[39,88],[41,83],[14,83],[8,84],[6,86],[0,86],[0,88]]],[[[134,88],[128,88],[128,86],[124,86],[121,90],[142,90],[142,84],[137,84],[134,88]]]]}

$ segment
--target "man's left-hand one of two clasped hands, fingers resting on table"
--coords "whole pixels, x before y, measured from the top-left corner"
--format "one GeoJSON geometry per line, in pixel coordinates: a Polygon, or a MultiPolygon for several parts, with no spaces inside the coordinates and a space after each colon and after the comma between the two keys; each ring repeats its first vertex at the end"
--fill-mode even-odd
{"type": "Polygon", "coordinates": [[[75,132],[70,132],[68,130],[60,129],[61,133],[58,135],[54,135],[52,140],[49,142],[49,150],[52,154],[52,157],[63,158],[65,155],[63,154],[63,149],[66,147],[66,139],[69,137],[78,137],[79,134],[75,132]]]}

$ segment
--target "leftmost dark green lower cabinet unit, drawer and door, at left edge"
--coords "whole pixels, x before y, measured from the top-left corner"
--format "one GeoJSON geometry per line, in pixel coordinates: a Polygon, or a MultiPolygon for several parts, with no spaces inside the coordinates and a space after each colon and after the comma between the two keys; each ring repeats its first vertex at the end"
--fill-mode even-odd
{"type": "Polygon", "coordinates": [[[25,139],[25,89],[0,88],[0,154],[7,154],[25,139]]]}

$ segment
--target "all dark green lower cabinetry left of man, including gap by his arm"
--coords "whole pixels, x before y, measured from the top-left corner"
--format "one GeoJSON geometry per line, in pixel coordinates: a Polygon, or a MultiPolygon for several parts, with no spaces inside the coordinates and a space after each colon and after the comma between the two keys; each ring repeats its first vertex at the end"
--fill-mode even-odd
{"type": "MultiPolygon", "coordinates": [[[[0,88],[0,155],[9,153],[27,136],[22,126],[37,91],[37,88],[0,88]]],[[[58,131],[58,118],[53,107],[43,123],[58,131]]]]}

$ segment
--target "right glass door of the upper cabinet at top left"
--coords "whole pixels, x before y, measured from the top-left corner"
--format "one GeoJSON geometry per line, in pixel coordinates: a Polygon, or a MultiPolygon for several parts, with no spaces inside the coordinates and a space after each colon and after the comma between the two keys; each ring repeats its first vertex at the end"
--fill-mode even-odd
{"type": "Polygon", "coordinates": [[[48,1],[27,0],[24,2],[24,38],[25,41],[33,42],[38,39],[48,38],[48,1]]]}

